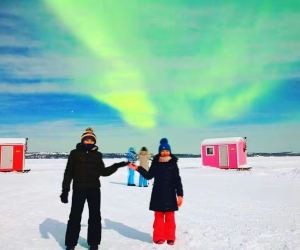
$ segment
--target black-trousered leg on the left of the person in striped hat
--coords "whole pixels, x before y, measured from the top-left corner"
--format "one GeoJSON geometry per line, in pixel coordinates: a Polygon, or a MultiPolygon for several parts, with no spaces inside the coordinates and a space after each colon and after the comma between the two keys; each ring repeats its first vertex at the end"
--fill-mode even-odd
{"type": "Polygon", "coordinates": [[[85,199],[86,193],[84,191],[73,190],[71,212],[65,238],[66,246],[72,247],[77,245],[85,199]]]}

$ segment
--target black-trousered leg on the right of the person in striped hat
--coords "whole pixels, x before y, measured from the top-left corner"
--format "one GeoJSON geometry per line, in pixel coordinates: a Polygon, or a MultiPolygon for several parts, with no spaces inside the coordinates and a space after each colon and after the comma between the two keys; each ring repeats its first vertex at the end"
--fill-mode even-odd
{"type": "Polygon", "coordinates": [[[100,189],[90,189],[87,194],[89,206],[88,236],[87,242],[90,246],[98,246],[101,242],[101,192],[100,189]]]}

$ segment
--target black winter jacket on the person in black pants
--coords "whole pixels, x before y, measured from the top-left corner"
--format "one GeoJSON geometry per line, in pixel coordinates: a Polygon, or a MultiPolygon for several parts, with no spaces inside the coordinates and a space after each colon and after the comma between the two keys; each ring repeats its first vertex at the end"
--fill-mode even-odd
{"type": "Polygon", "coordinates": [[[118,166],[113,164],[105,167],[102,154],[95,146],[87,151],[81,143],[70,152],[62,183],[63,191],[70,190],[73,180],[73,189],[100,188],[100,176],[109,176],[116,172],[118,166]]]}

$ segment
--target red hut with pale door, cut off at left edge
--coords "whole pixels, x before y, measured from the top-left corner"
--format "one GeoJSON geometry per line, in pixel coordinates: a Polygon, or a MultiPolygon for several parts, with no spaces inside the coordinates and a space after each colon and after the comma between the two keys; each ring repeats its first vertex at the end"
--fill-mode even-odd
{"type": "Polygon", "coordinates": [[[0,172],[22,172],[27,138],[0,138],[0,172]]]}

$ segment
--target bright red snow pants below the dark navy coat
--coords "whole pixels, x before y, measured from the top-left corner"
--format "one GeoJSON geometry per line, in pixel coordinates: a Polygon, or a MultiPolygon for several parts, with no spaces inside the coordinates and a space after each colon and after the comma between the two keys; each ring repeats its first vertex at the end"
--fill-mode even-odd
{"type": "Polygon", "coordinates": [[[175,212],[154,212],[153,241],[175,241],[175,212]]]}

